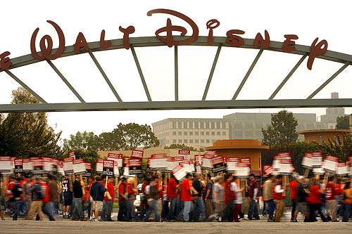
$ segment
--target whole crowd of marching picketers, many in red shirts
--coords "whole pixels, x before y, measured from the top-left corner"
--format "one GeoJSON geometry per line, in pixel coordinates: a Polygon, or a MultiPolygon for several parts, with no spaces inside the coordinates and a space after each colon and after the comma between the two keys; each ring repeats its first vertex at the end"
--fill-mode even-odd
{"type": "Polygon", "coordinates": [[[125,176],[120,177],[118,184],[107,176],[95,176],[89,181],[80,175],[65,176],[61,183],[53,175],[11,176],[1,195],[0,219],[5,219],[4,212],[11,212],[14,221],[19,216],[42,221],[44,214],[49,221],[55,221],[62,210],[63,219],[72,221],[115,221],[115,198],[119,208],[117,221],[279,222],[285,197],[291,199],[291,222],[298,222],[299,213],[304,222],[318,221],[318,217],[323,222],[346,222],[352,214],[352,186],[347,178],[337,180],[330,176],[325,181],[296,176],[284,184],[282,176],[270,175],[258,184],[254,174],[240,183],[233,174],[212,177],[187,173],[182,181],[161,174],[140,179],[142,183],[137,185],[136,178],[125,176]]]}

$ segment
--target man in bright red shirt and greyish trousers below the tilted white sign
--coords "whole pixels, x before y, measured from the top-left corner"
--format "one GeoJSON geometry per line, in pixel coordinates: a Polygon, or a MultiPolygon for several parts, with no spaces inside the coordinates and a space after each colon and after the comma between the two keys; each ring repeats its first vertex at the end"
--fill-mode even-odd
{"type": "MultiPolygon", "coordinates": [[[[181,183],[181,196],[180,200],[183,202],[183,221],[189,222],[189,213],[193,206],[192,200],[192,186],[191,186],[192,174],[187,173],[186,178],[181,183]]],[[[197,192],[195,192],[197,193],[197,192]]]]}

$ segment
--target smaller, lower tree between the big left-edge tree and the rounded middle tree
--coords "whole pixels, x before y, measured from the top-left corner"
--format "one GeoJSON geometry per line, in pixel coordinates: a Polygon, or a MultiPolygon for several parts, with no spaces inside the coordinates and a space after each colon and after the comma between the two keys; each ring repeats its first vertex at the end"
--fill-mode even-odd
{"type": "Polygon", "coordinates": [[[99,136],[96,136],[92,131],[77,131],[75,135],[70,135],[70,140],[63,140],[63,150],[98,150],[100,144],[99,136]]]}

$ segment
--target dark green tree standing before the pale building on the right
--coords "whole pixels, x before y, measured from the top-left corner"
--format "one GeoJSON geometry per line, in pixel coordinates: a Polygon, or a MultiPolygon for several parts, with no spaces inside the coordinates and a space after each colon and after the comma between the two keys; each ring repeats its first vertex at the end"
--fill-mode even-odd
{"type": "Polygon", "coordinates": [[[298,138],[297,125],[297,119],[294,118],[292,112],[287,110],[271,115],[271,125],[268,126],[268,129],[262,129],[263,144],[271,146],[296,142],[298,138]]]}

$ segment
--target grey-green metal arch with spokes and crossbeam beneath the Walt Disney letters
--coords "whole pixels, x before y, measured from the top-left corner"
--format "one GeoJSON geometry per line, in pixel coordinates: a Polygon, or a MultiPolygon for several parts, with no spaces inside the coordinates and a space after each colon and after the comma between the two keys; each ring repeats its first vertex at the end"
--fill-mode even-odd
{"type": "MultiPolygon", "coordinates": [[[[182,40],[184,37],[175,37],[175,40],[182,40]]],[[[241,84],[237,88],[237,91],[234,93],[234,96],[231,100],[206,100],[208,89],[210,87],[211,79],[213,78],[213,73],[215,71],[218,58],[220,56],[220,51],[223,46],[231,47],[226,43],[226,37],[214,37],[213,45],[217,46],[218,50],[215,54],[213,60],[213,66],[211,67],[210,74],[208,77],[208,82],[203,92],[203,98],[201,100],[179,100],[178,98],[178,53],[177,46],[175,47],[175,100],[173,101],[153,101],[149,94],[149,89],[144,79],[142,68],[139,65],[139,60],[137,58],[137,53],[134,50],[136,47],[144,46],[165,46],[165,43],[159,40],[157,37],[136,37],[130,38],[130,50],[134,58],[134,62],[137,65],[137,70],[141,82],[144,86],[144,91],[148,101],[142,102],[124,102],[118,95],[118,92],[115,90],[113,84],[111,84],[103,68],[99,64],[99,61],[96,60],[94,52],[96,51],[107,51],[113,49],[124,48],[122,39],[111,40],[111,46],[108,48],[101,48],[99,41],[90,42],[88,51],[81,51],[81,53],[89,53],[89,56],[94,61],[96,67],[98,67],[101,75],[106,80],[111,91],[114,93],[117,101],[109,103],[86,103],[84,99],[80,96],[79,93],[73,88],[73,86],[68,82],[63,74],[58,70],[51,60],[46,60],[46,62],[52,67],[52,69],[58,74],[59,77],[65,82],[68,88],[75,94],[80,102],[77,103],[47,103],[41,96],[35,93],[29,86],[22,82],[18,77],[13,74],[10,70],[16,67],[22,67],[25,65],[31,65],[33,63],[38,63],[39,60],[36,60],[32,57],[32,54],[21,56],[18,58],[11,59],[12,65],[8,70],[0,70],[0,72],[6,72],[9,76],[15,79],[18,84],[23,86],[25,89],[30,91],[41,103],[38,104],[0,104],[0,112],[69,112],[69,111],[103,111],[103,110],[190,110],[190,109],[241,109],[241,108],[327,108],[327,107],[352,107],[352,98],[340,98],[340,99],[313,99],[313,97],[319,93],[329,82],[337,77],[342,71],[351,65],[352,56],[344,53],[337,53],[334,51],[326,51],[324,55],[318,56],[317,58],[329,60],[335,63],[343,64],[337,72],[335,72],[332,77],[329,77],[323,84],[321,84],[313,93],[310,94],[306,99],[274,99],[282,86],[287,83],[289,78],[296,72],[297,68],[301,65],[303,60],[310,53],[309,46],[295,45],[296,50],[291,51],[290,53],[301,55],[301,59],[298,60],[296,65],[291,69],[289,74],[282,80],[281,84],[277,86],[277,89],[272,93],[272,95],[265,100],[237,100],[237,96],[241,91],[242,87],[246,83],[246,80],[249,78],[253,68],[256,66],[258,59],[263,53],[263,48],[258,49],[258,54],[253,60],[249,70],[246,72],[245,77],[242,79],[241,84]]],[[[253,39],[244,39],[244,45],[240,48],[253,48],[253,39]]],[[[268,51],[282,51],[282,42],[270,41],[269,48],[265,49],[268,51]]],[[[198,37],[196,41],[189,44],[189,46],[209,46],[208,37],[198,37]]],[[[75,49],[73,46],[66,46],[63,54],[60,58],[66,56],[75,55],[75,49]]]]}

